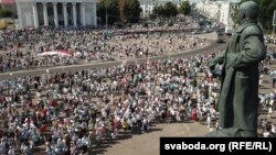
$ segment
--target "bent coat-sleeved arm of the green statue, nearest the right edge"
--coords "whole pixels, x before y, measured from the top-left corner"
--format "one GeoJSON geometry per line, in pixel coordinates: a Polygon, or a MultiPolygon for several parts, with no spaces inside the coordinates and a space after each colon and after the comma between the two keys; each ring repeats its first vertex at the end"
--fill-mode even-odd
{"type": "Polygon", "coordinates": [[[253,35],[244,40],[244,49],[231,55],[233,68],[246,67],[259,63],[266,57],[266,48],[259,36],[253,35]]]}

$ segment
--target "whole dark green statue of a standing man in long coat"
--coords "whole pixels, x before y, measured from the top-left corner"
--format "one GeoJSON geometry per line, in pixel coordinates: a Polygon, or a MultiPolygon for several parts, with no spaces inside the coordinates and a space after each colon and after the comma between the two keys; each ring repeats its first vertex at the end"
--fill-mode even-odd
{"type": "Polygon", "coordinates": [[[238,9],[237,31],[225,52],[209,63],[214,69],[222,64],[222,87],[219,100],[217,131],[205,136],[256,137],[258,115],[258,63],[266,57],[264,34],[257,24],[259,8],[253,1],[238,9]]]}

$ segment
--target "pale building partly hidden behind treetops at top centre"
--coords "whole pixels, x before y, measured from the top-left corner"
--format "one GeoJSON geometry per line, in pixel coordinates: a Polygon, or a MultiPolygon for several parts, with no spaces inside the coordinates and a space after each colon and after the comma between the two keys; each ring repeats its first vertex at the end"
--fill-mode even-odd
{"type": "Polygon", "coordinates": [[[188,0],[139,0],[142,10],[141,12],[142,18],[147,18],[149,14],[152,14],[153,8],[156,5],[164,4],[169,1],[179,7],[182,1],[188,1],[188,0]]]}

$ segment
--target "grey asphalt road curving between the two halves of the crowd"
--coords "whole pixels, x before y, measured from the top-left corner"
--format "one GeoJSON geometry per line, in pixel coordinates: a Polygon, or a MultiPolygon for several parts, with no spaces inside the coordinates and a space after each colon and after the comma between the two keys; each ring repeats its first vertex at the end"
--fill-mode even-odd
{"type": "MultiPolygon", "coordinates": [[[[225,38],[227,40],[227,38],[225,38]]],[[[211,44],[198,47],[194,49],[185,51],[185,52],[179,52],[179,53],[170,53],[164,54],[161,56],[150,57],[149,60],[157,60],[157,59],[164,59],[170,57],[191,57],[197,54],[205,54],[205,53],[212,53],[217,52],[222,48],[225,48],[225,43],[216,43],[214,41],[211,42],[211,44]]],[[[135,62],[146,62],[148,58],[131,58],[127,59],[126,64],[135,63],[135,62]]],[[[124,59],[123,59],[124,60],[124,59]]],[[[63,71],[76,71],[82,69],[99,69],[99,68],[107,68],[112,66],[120,65],[123,60],[115,60],[115,62],[94,62],[89,64],[82,64],[82,65],[72,65],[72,66],[55,66],[50,68],[40,68],[40,69],[33,69],[33,70],[18,70],[18,71],[9,71],[9,73],[2,73],[0,74],[0,80],[4,79],[11,79],[14,77],[25,77],[25,76],[33,76],[33,75],[41,75],[49,73],[63,73],[63,71]]]]}

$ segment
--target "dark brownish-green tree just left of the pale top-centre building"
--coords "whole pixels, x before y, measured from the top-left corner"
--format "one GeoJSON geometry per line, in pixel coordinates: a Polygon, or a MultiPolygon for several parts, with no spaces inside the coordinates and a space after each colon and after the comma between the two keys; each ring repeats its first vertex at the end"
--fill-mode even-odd
{"type": "Polygon", "coordinates": [[[119,0],[120,20],[136,23],[140,19],[140,3],[138,0],[119,0]]]}

